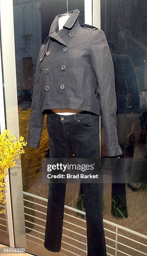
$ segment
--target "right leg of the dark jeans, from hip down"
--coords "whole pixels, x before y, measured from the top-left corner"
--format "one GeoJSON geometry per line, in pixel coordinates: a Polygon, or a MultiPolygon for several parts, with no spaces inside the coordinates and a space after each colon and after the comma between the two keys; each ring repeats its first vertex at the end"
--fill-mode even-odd
{"type": "MultiPolygon", "coordinates": [[[[79,115],[80,119],[82,114],[79,115]]],[[[69,133],[69,141],[76,158],[100,158],[99,143],[99,119],[97,126],[90,121],[83,122],[82,125],[74,125],[69,133]]],[[[106,242],[103,226],[102,210],[102,188],[103,183],[82,183],[84,190],[86,225],[87,225],[87,256],[106,256],[106,242]]]]}

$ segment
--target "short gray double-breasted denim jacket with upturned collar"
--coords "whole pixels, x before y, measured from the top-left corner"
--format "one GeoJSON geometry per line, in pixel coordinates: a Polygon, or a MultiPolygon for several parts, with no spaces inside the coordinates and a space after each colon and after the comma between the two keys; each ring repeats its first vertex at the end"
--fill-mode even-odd
{"type": "Polygon", "coordinates": [[[56,15],[38,55],[28,147],[40,145],[46,109],[87,110],[102,116],[108,156],[122,154],[117,137],[114,66],[101,29],[79,24],[78,9],[58,31],[56,15]]]}

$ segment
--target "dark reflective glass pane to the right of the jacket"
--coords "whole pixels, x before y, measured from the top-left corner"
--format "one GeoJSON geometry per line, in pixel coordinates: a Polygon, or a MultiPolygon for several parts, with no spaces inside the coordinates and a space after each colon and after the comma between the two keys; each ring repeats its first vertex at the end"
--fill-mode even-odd
{"type": "MultiPolygon", "coordinates": [[[[146,1],[132,0],[101,0],[101,29],[104,31],[112,54],[117,95],[117,132],[119,145],[124,153],[122,171],[133,174],[143,174],[147,158],[147,33],[146,33],[146,1]],[[132,159],[132,161],[128,160],[132,159]],[[141,159],[135,164],[135,159],[141,159]]],[[[104,128],[101,130],[101,156],[106,157],[104,128]]],[[[105,160],[106,161],[106,160],[105,160]]],[[[104,164],[104,169],[112,169],[104,164]]],[[[146,172],[145,172],[146,173],[146,172]]],[[[145,180],[146,177],[144,177],[145,180]]],[[[116,230],[113,223],[136,231],[136,236],[124,228],[118,230],[122,236],[118,241],[131,246],[138,251],[121,244],[117,248],[127,255],[142,255],[147,253],[145,235],[147,235],[147,183],[126,182],[105,184],[104,186],[104,219],[105,228],[116,230]],[[142,235],[140,235],[142,234],[142,235]],[[127,238],[137,240],[131,241],[127,238]],[[142,253],[139,253],[141,251],[142,253]]],[[[105,236],[115,239],[115,236],[105,230],[105,236]]],[[[107,245],[114,243],[106,240],[107,245]]],[[[114,250],[107,248],[113,254],[114,250]]]]}

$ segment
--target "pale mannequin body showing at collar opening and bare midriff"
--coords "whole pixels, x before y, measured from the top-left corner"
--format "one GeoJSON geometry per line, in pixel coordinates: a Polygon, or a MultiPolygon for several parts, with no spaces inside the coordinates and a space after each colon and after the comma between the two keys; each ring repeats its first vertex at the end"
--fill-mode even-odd
{"type": "MultiPolygon", "coordinates": [[[[66,23],[66,21],[68,20],[68,18],[70,17],[71,14],[68,15],[62,15],[61,17],[59,17],[58,19],[58,27],[59,30],[63,28],[63,25],[66,23]]],[[[83,110],[76,110],[76,109],[52,109],[53,112],[55,112],[58,115],[73,115],[76,113],[79,113],[83,110]]]]}

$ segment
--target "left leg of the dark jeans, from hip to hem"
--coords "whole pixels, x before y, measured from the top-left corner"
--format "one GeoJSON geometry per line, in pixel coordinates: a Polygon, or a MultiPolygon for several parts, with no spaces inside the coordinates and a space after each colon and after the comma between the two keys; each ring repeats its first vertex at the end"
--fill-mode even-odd
{"type": "MultiPolygon", "coordinates": [[[[55,121],[53,126],[50,126],[50,158],[68,158],[71,155],[71,147],[66,142],[63,134],[59,132],[60,129],[58,133],[56,133],[56,128],[60,128],[59,126],[59,123],[55,121]]],[[[61,250],[65,193],[66,183],[48,184],[44,247],[53,252],[59,252],[61,250]]]]}

